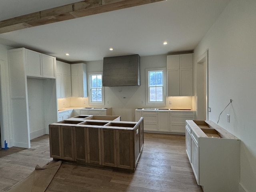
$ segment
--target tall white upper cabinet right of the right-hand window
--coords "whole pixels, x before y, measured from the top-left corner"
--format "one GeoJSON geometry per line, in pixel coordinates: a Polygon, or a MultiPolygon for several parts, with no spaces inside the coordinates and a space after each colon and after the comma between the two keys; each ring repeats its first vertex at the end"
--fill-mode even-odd
{"type": "Polygon", "coordinates": [[[167,56],[168,96],[193,95],[193,54],[167,56]]]}

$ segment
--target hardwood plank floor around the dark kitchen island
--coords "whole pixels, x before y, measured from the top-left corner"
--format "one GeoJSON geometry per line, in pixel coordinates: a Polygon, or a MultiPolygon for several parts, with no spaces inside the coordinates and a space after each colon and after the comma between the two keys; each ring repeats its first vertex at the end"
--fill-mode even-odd
{"type": "MultiPolygon", "coordinates": [[[[48,135],[31,141],[30,149],[0,151],[0,190],[28,176],[36,164],[50,160],[48,135]]],[[[134,173],[62,163],[46,192],[203,192],[196,184],[185,152],[185,136],[144,135],[144,148],[134,173]]]]}

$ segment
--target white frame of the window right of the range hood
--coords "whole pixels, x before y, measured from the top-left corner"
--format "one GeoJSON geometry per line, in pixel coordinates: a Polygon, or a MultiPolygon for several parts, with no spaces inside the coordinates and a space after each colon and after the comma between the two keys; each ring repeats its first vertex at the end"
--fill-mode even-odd
{"type": "Polygon", "coordinates": [[[145,76],[146,76],[146,106],[166,106],[166,99],[167,99],[167,86],[166,86],[166,67],[159,67],[159,68],[146,68],[145,76]],[[156,72],[162,71],[163,72],[163,101],[162,102],[150,102],[149,101],[149,85],[148,85],[148,74],[149,72],[156,72]]]}

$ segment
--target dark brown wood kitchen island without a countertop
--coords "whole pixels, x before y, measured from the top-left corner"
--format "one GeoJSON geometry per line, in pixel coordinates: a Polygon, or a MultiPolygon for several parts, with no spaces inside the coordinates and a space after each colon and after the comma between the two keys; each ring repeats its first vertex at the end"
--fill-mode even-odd
{"type": "Polygon", "coordinates": [[[143,118],[79,115],[49,125],[50,156],[93,166],[134,171],[144,146],[143,118]]]}

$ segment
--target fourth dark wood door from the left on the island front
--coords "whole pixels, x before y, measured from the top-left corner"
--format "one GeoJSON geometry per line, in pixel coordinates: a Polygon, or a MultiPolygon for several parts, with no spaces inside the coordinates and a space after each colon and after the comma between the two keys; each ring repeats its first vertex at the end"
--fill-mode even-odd
{"type": "Polygon", "coordinates": [[[100,128],[87,128],[87,158],[88,163],[101,165],[100,128]]]}

